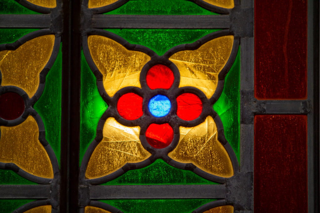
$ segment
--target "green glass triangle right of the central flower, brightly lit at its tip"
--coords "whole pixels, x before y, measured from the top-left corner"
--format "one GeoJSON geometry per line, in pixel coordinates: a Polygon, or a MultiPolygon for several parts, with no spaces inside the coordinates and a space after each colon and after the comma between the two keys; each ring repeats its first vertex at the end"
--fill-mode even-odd
{"type": "Polygon", "coordinates": [[[228,72],[220,98],[213,109],[221,118],[224,135],[239,160],[240,141],[240,48],[230,71],[228,72]]]}

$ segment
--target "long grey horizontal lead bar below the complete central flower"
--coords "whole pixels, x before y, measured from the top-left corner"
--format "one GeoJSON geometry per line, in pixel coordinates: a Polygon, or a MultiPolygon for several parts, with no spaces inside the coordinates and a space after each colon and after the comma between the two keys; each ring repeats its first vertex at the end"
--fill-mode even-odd
{"type": "Polygon", "coordinates": [[[225,198],[225,185],[92,185],[90,199],[225,198]]]}

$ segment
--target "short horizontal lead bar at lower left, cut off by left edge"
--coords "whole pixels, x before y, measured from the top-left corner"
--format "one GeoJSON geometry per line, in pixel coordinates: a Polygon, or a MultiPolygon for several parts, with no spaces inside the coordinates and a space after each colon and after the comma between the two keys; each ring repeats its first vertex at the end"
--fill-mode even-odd
{"type": "Polygon", "coordinates": [[[0,185],[0,198],[50,198],[50,185],[0,185]]]}

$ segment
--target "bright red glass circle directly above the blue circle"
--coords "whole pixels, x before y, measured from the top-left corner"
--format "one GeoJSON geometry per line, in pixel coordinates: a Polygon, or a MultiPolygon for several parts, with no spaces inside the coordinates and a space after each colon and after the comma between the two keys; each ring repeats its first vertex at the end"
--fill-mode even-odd
{"type": "Polygon", "coordinates": [[[151,90],[170,89],[173,84],[174,76],[172,70],[162,64],[151,67],[146,76],[146,81],[151,90]]]}

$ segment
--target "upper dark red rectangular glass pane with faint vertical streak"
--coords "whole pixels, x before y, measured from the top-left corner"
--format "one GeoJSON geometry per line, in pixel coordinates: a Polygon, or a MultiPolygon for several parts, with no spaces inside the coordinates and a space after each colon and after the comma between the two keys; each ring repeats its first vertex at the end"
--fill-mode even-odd
{"type": "Polygon", "coordinates": [[[307,1],[254,4],[255,97],[307,98],[307,1]]]}

